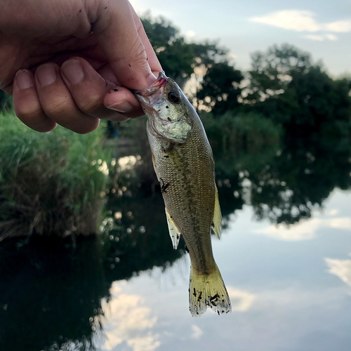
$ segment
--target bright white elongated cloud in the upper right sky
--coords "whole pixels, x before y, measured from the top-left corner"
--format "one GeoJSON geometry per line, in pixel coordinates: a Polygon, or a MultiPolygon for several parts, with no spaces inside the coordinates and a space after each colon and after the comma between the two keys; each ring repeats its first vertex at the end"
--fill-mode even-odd
{"type": "MultiPolygon", "coordinates": [[[[296,32],[351,32],[351,20],[341,20],[329,23],[319,23],[315,20],[317,15],[311,11],[283,10],[274,11],[260,17],[249,18],[251,22],[263,23],[296,32]]],[[[310,38],[323,40],[321,38],[310,38]]],[[[335,40],[335,39],[329,39],[335,40]]]]}

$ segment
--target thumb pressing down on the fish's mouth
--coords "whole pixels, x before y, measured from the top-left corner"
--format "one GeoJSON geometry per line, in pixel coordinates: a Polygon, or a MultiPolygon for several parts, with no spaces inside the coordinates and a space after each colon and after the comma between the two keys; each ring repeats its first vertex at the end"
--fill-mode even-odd
{"type": "Polygon", "coordinates": [[[152,71],[161,71],[161,65],[129,1],[98,1],[89,17],[119,83],[132,89],[152,84],[156,79],[152,71]]]}

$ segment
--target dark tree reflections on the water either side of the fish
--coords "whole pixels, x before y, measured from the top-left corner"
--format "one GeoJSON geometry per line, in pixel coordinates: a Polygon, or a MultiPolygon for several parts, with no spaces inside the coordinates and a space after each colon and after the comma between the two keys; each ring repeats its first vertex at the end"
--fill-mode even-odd
{"type": "MultiPolygon", "coordinates": [[[[318,135],[235,155],[215,145],[223,218],[244,204],[272,223],[310,218],[334,187],[350,189],[350,146],[318,135]]],[[[184,244],[172,248],[157,186],[153,192],[138,173],[113,177],[98,239],[1,244],[0,350],[93,350],[93,332],[103,334],[100,301],[108,301],[112,282],[166,269],[184,255],[184,244]]]]}

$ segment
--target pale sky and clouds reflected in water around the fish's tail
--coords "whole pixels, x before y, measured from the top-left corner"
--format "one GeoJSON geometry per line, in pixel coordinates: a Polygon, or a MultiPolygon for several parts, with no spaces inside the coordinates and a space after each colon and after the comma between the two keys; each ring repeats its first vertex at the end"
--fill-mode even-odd
{"type": "Polygon", "coordinates": [[[114,282],[100,350],[350,350],[351,192],[289,229],[230,216],[213,251],[232,314],[187,311],[190,260],[114,282]]]}

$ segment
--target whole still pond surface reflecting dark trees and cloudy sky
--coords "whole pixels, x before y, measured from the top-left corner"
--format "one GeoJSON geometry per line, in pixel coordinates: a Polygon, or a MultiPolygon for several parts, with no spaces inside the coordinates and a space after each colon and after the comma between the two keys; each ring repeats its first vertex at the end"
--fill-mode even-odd
{"type": "Polygon", "coordinates": [[[273,160],[269,177],[265,167],[220,180],[213,251],[232,314],[190,316],[190,259],[184,243],[172,249],[159,192],[126,190],[110,197],[98,239],[1,244],[0,350],[349,351],[350,150],[344,163],[323,152],[329,169],[305,154],[301,172],[286,157],[293,176],[273,160]]]}

